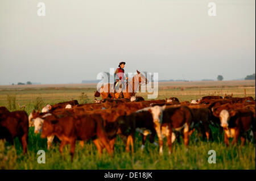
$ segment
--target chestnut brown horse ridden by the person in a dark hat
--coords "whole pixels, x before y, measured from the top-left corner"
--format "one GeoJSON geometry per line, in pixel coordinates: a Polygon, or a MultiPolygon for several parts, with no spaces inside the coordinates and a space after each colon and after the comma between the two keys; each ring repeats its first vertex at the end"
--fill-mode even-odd
{"type": "MultiPolygon", "coordinates": [[[[123,89],[119,89],[118,91],[114,91],[115,87],[113,83],[106,83],[106,85],[101,86],[100,90],[97,90],[94,93],[95,97],[100,97],[102,99],[106,98],[112,98],[112,99],[118,99],[120,94],[123,93],[123,98],[130,99],[131,96],[134,96],[138,87],[141,86],[144,83],[148,83],[148,80],[146,77],[144,77],[143,74],[141,74],[137,70],[137,74],[134,75],[132,81],[129,81],[126,83],[126,86],[123,87],[123,89]]],[[[120,85],[120,87],[122,84],[120,85]]]]}

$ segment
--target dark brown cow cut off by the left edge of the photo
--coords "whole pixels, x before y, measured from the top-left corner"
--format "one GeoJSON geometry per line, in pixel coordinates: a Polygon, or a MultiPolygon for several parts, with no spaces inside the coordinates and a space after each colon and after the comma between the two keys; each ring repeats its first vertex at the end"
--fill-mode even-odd
{"type": "Polygon", "coordinates": [[[28,144],[28,116],[25,111],[4,112],[0,115],[0,138],[14,144],[18,137],[23,147],[23,154],[27,153],[28,144]]]}

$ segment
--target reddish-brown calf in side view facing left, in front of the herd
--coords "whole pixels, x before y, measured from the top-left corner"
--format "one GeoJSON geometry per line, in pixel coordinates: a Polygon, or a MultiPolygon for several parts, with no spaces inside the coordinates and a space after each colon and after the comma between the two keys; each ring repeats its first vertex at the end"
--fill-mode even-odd
{"type": "Polygon", "coordinates": [[[52,134],[56,135],[61,140],[61,155],[63,147],[66,144],[71,144],[70,154],[72,161],[75,153],[76,140],[87,141],[92,139],[100,155],[102,153],[100,144],[105,146],[109,154],[113,154],[100,115],[87,114],[67,116],[53,120],[46,118],[46,120],[44,120],[41,137],[46,138],[52,134]],[[96,136],[98,139],[96,139],[96,136]]]}

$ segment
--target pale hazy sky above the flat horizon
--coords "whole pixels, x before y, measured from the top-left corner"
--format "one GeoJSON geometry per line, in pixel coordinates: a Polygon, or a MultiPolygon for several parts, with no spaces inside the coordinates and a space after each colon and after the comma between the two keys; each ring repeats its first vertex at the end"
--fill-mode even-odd
{"type": "Polygon", "coordinates": [[[0,85],[81,83],[121,61],[159,79],[253,74],[255,1],[0,1],[0,85]]]}

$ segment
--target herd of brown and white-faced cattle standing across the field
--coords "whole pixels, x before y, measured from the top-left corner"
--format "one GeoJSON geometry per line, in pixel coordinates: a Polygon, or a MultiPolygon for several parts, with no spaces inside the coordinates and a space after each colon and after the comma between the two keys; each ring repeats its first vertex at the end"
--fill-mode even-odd
{"type": "Polygon", "coordinates": [[[211,127],[217,127],[224,133],[224,142],[229,146],[241,145],[245,141],[255,142],[255,100],[248,96],[204,96],[191,102],[179,102],[177,98],[166,100],[144,100],[142,97],[131,99],[104,99],[96,103],[79,104],[77,100],[47,104],[42,111],[32,111],[28,116],[25,111],[9,112],[0,107],[0,139],[5,138],[11,144],[18,137],[27,153],[28,128],[34,127],[34,133],[41,133],[47,138],[47,147],[51,149],[55,139],[60,140],[60,153],[70,144],[73,160],[76,141],[92,140],[98,154],[106,148],[108,154],[114,154],[117,135],[122,138],[126,151],[134,151],[135,133],[142,136],[143,150],[147,136],[152,144],[159,145],[159,154],[163,154],[163,141],[167,137],[169,153],[172,143],[180,137],[188,146],[189,137],[195,130],[205,141],[213,141],[211,127]],[[158,137],[158,144],[155,137],[158,137]]]}

